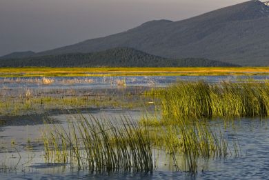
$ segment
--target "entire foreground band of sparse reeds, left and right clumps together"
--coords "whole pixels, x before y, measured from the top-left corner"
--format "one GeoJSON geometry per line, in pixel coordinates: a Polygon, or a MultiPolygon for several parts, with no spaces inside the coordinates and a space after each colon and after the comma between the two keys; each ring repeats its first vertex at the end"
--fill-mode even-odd
{"type": "Polygon", "coordinates": [[[176,170],[181,170],[178,159],[183,155],[184,170],[195,173],[199,158],[228,155],[228,141],[206,121],[177,121],[172,126],[151,128],[128,117],[112,121],[81,115],[70,121],[68,128],[53,127],[43,134],[46,161],[93,171],[152,172],[158,161],[152,151],[159,150],[168,152],[176,170]]]}

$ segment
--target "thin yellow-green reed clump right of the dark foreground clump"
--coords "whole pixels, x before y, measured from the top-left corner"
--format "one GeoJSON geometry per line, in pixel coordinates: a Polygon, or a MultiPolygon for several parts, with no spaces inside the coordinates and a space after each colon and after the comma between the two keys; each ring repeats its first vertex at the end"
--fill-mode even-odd
{"type": "Polygon", "coordinates": [[[142,126],[150,126],[152,146],[166,150],[172,157],[174,166],[185,164],[184,170],[195,173],[198,170],[199,159],[226,158],[228,154],[239,155],[237,142],[229,148],[228,139],[219,128],[212,126],[209,121],[198,119],[177,119],[163,121],[143,119],[142,126]],[[185,157],[185,161],[178,162],[178,156],[185,157]]]}

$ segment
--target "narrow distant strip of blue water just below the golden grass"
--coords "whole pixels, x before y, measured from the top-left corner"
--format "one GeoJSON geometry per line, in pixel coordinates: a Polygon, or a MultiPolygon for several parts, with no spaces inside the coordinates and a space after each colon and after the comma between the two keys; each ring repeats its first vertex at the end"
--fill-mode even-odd
{"type": "Polygon", "coordinates": [[[54,83],[43,85],[41,78],[0,77],[0,88],[117,88],[117,81],[125,81],[126,86],[165,87],[179,80],[205,80],[211,83],[220,81],[240,81],[242,79],[264,80],[268,76],[127,76],[127,77],[52,77],[54,83]],[[90,80],[90,83],[89,83],[90,80]]]}

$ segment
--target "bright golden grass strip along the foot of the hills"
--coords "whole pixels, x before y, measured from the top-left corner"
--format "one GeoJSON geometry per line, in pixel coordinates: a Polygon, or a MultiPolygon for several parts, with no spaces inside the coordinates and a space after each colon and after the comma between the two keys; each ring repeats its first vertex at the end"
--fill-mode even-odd
{"type": "Polygon", "coordinates": [[[0,77],[269,75],[269,67],[243,68],[0,68],[0,77]]]}

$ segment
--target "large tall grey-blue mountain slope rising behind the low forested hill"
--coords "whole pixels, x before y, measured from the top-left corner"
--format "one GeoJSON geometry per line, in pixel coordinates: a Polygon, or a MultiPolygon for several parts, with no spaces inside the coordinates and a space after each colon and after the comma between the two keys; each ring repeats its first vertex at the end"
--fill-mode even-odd
{"type": "Polygon", "coordinates": [[[183,21],[149,21],[108,37],[39,52],[37,56],[129,47],[161,57],[198,57],[269,66],[269,7],[246,1],[183,21]]]}

